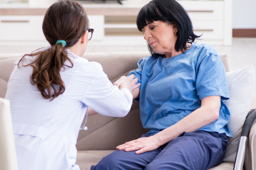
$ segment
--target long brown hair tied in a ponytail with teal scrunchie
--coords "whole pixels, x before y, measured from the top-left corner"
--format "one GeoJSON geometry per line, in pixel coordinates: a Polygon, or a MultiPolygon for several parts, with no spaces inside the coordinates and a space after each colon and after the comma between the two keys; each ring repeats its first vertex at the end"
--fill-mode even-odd
{"type": "Polygon", "coordinates": [[[20,64],[26,55],[36,56],[35,61],[23,66],[33,67],[30,81],[31,84],[37,86],[43,98],[53,100],[65,91],[65,84],[60,77],[60,69],[66,60],[70,62],[71,66],[65,66],[73,67],[63,44],[56,44],[56,41],[65,40],[65,47],[72,47],[85,33],[88,25],[89,21],[84,8],[76,1],[60,0],[46,11],[43,20],[43,33],[51,47],[45,51],[25,54],[19,61],[20,64]]]}

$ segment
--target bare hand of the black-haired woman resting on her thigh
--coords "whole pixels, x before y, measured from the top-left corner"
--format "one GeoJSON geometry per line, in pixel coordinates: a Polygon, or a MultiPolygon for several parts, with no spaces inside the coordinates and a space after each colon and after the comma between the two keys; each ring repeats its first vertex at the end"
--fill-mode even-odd
{"type": "Polygon", "coordinates": [[[124,150],[126,152],[137,150],[135,153],[140,154],[155,150],[160,146],[160,142],[154,136],[149,136],[125,142],[124,144],[117,146],[116,149],[124,150]]]}

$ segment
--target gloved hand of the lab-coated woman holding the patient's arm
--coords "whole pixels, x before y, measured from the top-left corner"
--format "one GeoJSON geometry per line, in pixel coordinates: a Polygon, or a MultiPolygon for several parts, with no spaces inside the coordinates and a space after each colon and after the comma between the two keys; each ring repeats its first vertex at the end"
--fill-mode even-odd
{"type": "Polygon", "coordinates": [[[113,85],[118,86],[121,85],[122,83],[125,83],[129,86],[130,91],[134,91],[134,89],[138,88],[141,84],[138,83],[138,78],[134,78],[134,74],[131,74],[129,77],[127,76],[122,76],[119,78],[116,82],[113,83],[113,85]]]}

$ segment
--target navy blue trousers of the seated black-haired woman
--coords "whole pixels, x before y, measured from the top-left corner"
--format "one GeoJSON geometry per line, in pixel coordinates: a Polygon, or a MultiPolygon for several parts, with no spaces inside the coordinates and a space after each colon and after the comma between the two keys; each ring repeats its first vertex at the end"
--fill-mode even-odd
{"type": "Polygon", "coordinates": [[[150,152],[135,154],[135,151],[116,150],[91,170],[205,170],[224,159],[227,142],[224,133],[184,132],[150,152]]]}

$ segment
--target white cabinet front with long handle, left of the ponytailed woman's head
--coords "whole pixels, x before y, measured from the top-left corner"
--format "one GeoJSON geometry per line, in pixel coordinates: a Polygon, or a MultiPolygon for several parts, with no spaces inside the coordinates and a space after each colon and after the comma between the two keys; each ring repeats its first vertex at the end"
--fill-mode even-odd
{"type": "Polygon", "coordinates": [[[0,16],[1,41],[46,41],[44,16],[0,16]]]}

